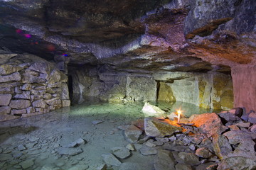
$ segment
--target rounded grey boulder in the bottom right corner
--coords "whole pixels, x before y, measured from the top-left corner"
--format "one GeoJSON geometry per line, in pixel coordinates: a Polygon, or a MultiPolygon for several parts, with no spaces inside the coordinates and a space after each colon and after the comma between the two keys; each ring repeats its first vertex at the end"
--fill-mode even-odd
{"type": "Polygon", "coordinates": [[[218,165],[218,170],[225,169],[233,169],[233,170],[241,170],[241,169],[255,169],[256,162],[255,160],[248,159],[246,157],[229,157],[221,160],[218,165]]]}

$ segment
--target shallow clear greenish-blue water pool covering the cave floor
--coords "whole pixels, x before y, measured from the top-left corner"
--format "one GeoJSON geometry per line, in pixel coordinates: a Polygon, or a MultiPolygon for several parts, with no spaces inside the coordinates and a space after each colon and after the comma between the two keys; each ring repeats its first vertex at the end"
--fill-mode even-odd
{"type": "MultiPolygon", "coordinates": [[[[181,108],[187,117],[192,114],[209,113],[189,103],[158,102],[167,113],[181,108]]],[[[134,103],[82,103],[70,108],[62,108],[51,113],[19,118],[0,125],[0,169],[97,169],[103,162],[101,155],[111,153],[112,147],[125,147],[122,130],[117,127],[127,125],[132,120],[144,118],[143,102],[134,103]],[[102,123],[92,124],[100,120],[102,123]],[[85,145],[73,156],[60,155],[58,150],[82,138],[85,145]]],[[[143,156],[132,152],[121,162],[147,164],[154,169],[154,155],[143,156]]],[[[119,169],[109,166],[108,169],[119,169]]]]}

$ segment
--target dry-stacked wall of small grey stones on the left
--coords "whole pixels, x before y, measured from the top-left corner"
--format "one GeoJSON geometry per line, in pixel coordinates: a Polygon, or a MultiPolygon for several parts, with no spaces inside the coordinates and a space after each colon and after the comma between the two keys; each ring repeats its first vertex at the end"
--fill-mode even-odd
{"type": "Polygon", "coordinates": [[[63,72],[45,60],[18,57],[1,64],[0,120],[70,106],[67,81],[63,72]]]}

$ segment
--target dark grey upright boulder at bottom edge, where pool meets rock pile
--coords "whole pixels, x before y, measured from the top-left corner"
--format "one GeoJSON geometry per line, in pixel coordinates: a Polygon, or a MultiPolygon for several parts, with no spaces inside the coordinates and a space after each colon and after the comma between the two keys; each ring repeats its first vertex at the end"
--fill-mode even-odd
{"type": "Polygon", "coordinates": [[[176,162],[173,154],[168,150],[159,149],[154,159],[154,169],[174,169],[176,162]]]}

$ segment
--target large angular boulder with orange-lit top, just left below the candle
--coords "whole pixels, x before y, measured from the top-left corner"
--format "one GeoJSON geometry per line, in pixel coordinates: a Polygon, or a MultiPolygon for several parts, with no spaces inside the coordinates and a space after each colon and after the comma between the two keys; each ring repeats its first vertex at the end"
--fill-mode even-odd
{"type": "Polygon", "coordinates": [[[144,118],[144,129],[146,135],[151,137],[165,137],[182,132],[182,128],[173,121],[157,118],[144,118]]]}

